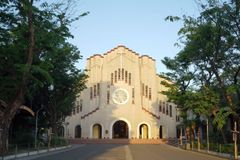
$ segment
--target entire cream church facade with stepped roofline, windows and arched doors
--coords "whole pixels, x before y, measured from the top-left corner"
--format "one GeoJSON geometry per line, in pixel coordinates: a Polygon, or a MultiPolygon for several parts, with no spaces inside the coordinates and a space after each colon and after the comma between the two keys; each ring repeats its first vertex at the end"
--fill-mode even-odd
{"type": "Polygon", "coordinates": [[[87,59],[87,88],[65,119],[68,138],[176,137],[177,106],[161,93],[155,60],[125,46],[87,59]]]}

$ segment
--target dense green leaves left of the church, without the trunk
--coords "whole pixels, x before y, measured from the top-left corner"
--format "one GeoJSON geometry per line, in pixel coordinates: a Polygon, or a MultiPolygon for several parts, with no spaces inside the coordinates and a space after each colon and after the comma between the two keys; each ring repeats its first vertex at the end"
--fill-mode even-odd
{"type": "Polygon", "coordinates": [[[67,13],[70,2],[44,2],[40,7],[29,6],[27,1],[0,4],[0,100],[12,102],[24,73],[29,71],[25,105],[34,111],[43,106],[46,114],[40,119],[46,119],[48,125],[61,124],[85,87],[86,75],[75,66],[81,59],[80,51],[68,39],[73,38],[70,25],[89,13],[70,17],[67,13]],[[31,66],[26,65],[30,7],[35,33],[31,66]]]}

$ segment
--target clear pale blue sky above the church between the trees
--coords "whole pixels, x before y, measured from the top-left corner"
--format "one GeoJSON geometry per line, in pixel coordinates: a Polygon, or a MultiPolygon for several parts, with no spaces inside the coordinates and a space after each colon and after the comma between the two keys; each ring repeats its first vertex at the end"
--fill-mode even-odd
{"type": "Polygon", "coordinates": [[[71,26],[69,40],[81,52],[76,65],[84,69],[86,59],[124,45],[140,55],[156,60],[157,73],[166,72],[164,57],[174,57],[181,48],[174,46],[182,22],[168,22],[169,16],[199,15],[195,0],[78,0],[75,10],[90,13],[71,26]]]}

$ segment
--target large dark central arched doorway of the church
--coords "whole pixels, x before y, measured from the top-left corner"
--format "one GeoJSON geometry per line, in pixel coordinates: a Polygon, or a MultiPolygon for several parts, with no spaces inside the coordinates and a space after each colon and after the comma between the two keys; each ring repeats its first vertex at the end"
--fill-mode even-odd
{"type": "Polygon", "coordinates": [[[112,131],[113,138],[128,138],[128,125],[122,120],[114,123],[112,131]]]}

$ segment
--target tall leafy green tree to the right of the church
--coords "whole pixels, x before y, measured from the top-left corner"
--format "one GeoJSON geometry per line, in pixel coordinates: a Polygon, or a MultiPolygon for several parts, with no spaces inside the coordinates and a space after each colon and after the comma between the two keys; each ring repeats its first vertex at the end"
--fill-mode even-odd
{"type": "MultiPolygon", "coordinates": [[[[194,101],[181,98],[181,103],[184,103],[186,109],[196,107],[201,113],[203,111],[201,108],[211,110],[212,100],[205,99],[206,93],[202,94],[204,88],[211,91],[212,97],[216,97],[215,95],[219,97],[213,98],[217,108],[215,110],[218,110],[214,114],[214,124],[221,131],[228,118],[239,121],[239,2],[239,0],[230,2],[208,0],[206,4],[201,4],[202,11],[199,17],[184,15],[182,18],[184,26],[179,31],[184,47],[174,59],[163,60],[166,66],[169,66],[169,61],[173,61],[175,64],[185,64],[185,68],[191,70],[192,85],[189,85],[187,90],[192,91],[189,94],[190,100],[198,100],[199,104],[197,107],[194,101]],[[209,104],[208,107],[204,101],[209,104]]],[[[182,65],[175,67],[171,74],[182,75],[180,77],[184,79],[187,72],[182,74],[182,71],[179,71],[181,67],[182,65]]],[[[171,74],[168,73],[170,76],[171,74]]],[[[174,80],[176,77],[171,78],[174,80]]],[[[177,86],[182,86],[179,81],[175,82],[177,86]]],[[[182,93],[182,90],[176,93],[179,92],[182,93]]],[[[224,141],[226,142],[225,138],[224,141]]]]}

